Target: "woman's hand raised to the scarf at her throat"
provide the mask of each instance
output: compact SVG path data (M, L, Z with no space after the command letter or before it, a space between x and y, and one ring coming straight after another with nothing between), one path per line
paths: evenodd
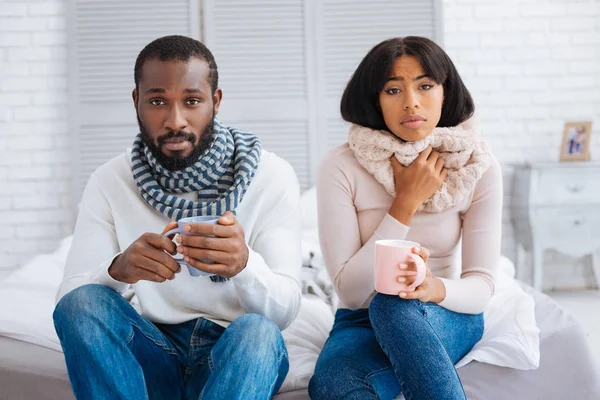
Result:
M400 164L395 155L392 155L391 162L396 199L389 213L404 225L410 225L417 209L433 196L446 179L444 161L440 153L429 146L408 167Z

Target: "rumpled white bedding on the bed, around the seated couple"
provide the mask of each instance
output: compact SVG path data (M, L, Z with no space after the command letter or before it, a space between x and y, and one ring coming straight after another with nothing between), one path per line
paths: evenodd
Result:
M0 335L61 351L52 312L70 239L63 240L53 254L35 257L0 281ZM513 274L512 263L503 258L497 292L484 314L484 336L458 367L472 360L522 370L539 365L533 299L516 284ZM314 284L305 282L303 286ZM290 372L281 392L307 387L332 325L331 304L305 294L298 318L284 331Z

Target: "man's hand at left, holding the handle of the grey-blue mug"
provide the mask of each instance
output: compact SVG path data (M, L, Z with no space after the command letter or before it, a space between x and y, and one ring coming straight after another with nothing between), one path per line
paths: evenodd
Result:
M164 282L175 278L181 267L169 254L175 254L175 243L163 236L177 223L170 222L163 233L144 233L119 255L108 269L113 279L124 283L139 281Z

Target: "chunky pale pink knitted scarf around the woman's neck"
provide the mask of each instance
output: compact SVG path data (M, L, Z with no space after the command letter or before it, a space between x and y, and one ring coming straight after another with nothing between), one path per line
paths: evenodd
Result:
M396 155L400 164L408 166L431 145L440 153L448 170L442 186L419 208L432 213L453 207L472 193L491 162L490 151L479 138L474 118L456 127L435 128L427 137L416 142L402 142L387 131L352 125L348 143L360 165L394 197L392 154Z

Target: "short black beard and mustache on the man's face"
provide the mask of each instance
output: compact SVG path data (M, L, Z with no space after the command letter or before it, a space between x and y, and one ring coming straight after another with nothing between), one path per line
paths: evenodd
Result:
M206 125L202 135L198 138L191 132L186 131L170 131L165 133L164 135L156 138L156 142L150 137L146 127L142 124L140 120L140 116L137 116L138 126L140 128L140 133L142 134L142 139L146 146L150 149L156 161L162 165L164 168L169 171L180 171L182 169L186 169L187 167L191 167L198 161L200 156L208 149L210 146L210 142L212 140L213 130L214 130L214 115L211 119L210 123ZM173 156L168 157L162 152L162 147L164 146L165 140L172 138L183 138L184 140L189 141L194 149L187 157L182 156Z

